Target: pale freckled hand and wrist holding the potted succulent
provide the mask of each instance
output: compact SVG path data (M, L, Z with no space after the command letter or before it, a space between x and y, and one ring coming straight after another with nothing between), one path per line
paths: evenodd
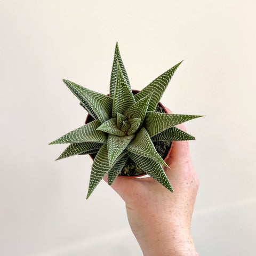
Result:
M186 131L185 126L178 128ZM174 141L164 167L174 193L153 178L117 177L111 187L123 198L127 217L144 256L198 256L190 233L198 175L188 141ZM104 178L107 181L107 177Z

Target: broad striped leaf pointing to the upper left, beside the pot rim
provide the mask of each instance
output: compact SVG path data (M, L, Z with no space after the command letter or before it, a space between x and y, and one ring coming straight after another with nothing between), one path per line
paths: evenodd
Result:
M81 100L83 105L87 108L89 105L93 113L97 116L101 123L106 122L111 117L111 108L113 100L107 95L94 92L85 87L75 84L73 82L63 80L68 88L76 97Z

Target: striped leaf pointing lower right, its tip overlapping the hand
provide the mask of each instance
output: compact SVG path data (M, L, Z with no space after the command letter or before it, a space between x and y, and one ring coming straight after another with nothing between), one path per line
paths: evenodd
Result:
M171 183L167 178L161 164L145 156L139 156L130 152L128 152L127 154L144 172L150 175L150 177L152 177L153 179L161 183L165 188L173 192Z

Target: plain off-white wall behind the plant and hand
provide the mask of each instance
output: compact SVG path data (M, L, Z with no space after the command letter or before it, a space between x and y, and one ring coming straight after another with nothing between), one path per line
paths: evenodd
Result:
M47 144L86 113L62 83L108 93L116 41L132 89L185 60L161 102L186 123L201 180L192 232L201 255L255 255L254 0L0 1L1 237L4 256L142 255L122 199L92 161L54 162Z

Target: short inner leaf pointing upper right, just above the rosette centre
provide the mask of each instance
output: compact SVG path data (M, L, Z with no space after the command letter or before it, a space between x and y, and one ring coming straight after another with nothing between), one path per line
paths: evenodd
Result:
M129 109L127 109L124 113L124 115L127 118L140 118L141 119L141 125L144 121L144 118L147 113L148 104L151 98L151 94L147 95L146 97L138 100L136 103L134 103Z

